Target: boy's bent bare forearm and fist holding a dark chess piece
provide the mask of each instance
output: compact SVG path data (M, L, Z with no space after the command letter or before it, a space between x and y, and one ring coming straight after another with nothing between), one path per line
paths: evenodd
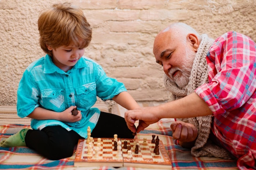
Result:
M27 117L37 120L59 120L61 122L77 122L81 120L81 111L78 111L76 116L72 115L71 111L76 108L76 106L71 106L62 112L55 112L51 110L44 109L42 107L36 107Z

